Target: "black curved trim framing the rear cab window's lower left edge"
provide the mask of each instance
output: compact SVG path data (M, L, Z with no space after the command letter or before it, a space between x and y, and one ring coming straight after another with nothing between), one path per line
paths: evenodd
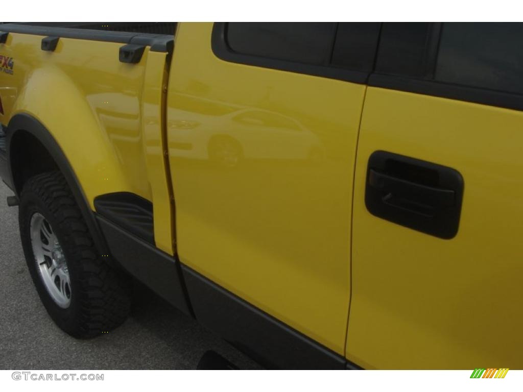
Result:
M275 60L269 59L267 57L251 56L233 52L231 48L229 48L229 45L226 41L226 28L227 24L225 22L217 22L212 28L212 52L221 60L232 63L272 68L274 70L280 71L345 80L346 82L359 84L365 84L367 82L367 77L369 75L367 72L351 71L332 65L324 66L300 64L291 61Z

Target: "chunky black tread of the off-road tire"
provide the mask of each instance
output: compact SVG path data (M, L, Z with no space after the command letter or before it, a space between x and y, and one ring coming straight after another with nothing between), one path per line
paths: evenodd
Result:
M54 216L65 234L62 247L69 251L68 263L77 269L72 282L79 297L75 322L59 326L74 337L90 338L121 325L130 310L130 280L100 256L65 178L58 171L39 174L26 182L21 198L29 193Z

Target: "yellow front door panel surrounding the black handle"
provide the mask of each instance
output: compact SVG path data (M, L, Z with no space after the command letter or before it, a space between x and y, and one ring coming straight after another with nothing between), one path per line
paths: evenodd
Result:
M347 358L367 368L523 367L523 113L367 89L356 163ZM457 235L371 215L377 150L463 176Z

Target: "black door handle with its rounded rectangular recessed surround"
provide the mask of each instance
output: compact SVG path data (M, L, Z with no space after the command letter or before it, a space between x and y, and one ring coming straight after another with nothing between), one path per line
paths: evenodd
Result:
M367 210L440 238L458 232L463 178L450 167L376 151L367 167Z

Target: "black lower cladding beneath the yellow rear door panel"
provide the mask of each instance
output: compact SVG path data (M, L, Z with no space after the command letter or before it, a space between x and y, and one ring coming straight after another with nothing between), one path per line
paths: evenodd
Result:
M347 361L180 263L192 309L203 326L267 368L345 369ZM358 368L350 364L350 368Z

